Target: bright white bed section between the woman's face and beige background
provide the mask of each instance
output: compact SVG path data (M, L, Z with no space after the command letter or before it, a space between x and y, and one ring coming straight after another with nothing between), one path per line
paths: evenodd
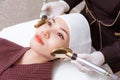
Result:
M38 19L4 28L0 32L0 37L18 43L24 47L28 47L31 38L36 31L34 25L37 22Z

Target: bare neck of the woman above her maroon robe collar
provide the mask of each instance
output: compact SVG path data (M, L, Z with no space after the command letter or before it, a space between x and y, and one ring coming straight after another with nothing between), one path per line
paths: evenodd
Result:
M32 49L28 50L16 64L35 64L48 62L48 58L36 53Z

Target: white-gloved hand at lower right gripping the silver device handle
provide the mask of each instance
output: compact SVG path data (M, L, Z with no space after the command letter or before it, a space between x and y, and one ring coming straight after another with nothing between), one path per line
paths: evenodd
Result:
M78 57L98 66L101 66L105 62L104 56L100 51L91 54L78 54ZM82 72L92 72L90 68L80 64L77 60L72 60L71 63L75 64L75 66Z

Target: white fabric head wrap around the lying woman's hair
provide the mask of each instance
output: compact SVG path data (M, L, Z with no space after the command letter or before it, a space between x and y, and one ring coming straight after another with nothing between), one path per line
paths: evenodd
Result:
M74 53L87 53L91 50L91 37L89 24L80 13L71 13L58 16L62 18L69 27L70 45Z

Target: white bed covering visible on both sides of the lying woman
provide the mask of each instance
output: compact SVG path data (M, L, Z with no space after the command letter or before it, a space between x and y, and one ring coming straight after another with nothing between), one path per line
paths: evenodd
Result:
M3 29L0 37L18 43L24 47L29 46L29 42L36 29L34 24L39 19L20 23ZM109 67L107 67L109 69ZM80 72L70 61L57 61L53 66L52 80L108 80L107 77L98 73L87 74Z

